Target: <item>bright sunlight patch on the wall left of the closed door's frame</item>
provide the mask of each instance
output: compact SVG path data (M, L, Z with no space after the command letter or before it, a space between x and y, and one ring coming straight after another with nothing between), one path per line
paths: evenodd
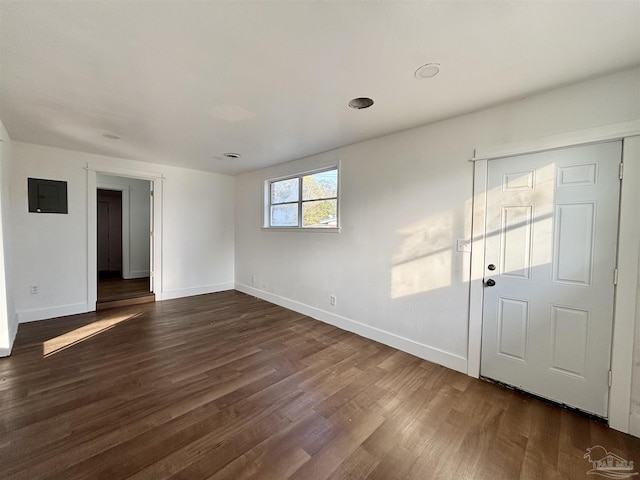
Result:
M403 240L393 257L391 298L451 285L453 213L432 215L398 234Z

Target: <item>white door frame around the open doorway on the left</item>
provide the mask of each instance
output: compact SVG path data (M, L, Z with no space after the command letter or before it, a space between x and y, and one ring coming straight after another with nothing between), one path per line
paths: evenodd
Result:
M98 299L98 190L97 174L148 180L153 186L153 218L151 219L153 242L149 275L152 277L152 292L156 300L162 300L162 183L164 176L159 172L120 168L94 163L87 164L87 308L95 311ZM124 220L124 219L123 219ZM123 232L124 236L124 232ZM124 258L123 258L124 263Z

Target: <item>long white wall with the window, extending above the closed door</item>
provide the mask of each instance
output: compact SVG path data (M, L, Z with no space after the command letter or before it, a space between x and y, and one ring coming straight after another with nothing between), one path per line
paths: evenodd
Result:
M470 236L474 148L638 119L639 83L620 72L237 177L236 287L466 371L455 243ZM336 160L341 233L260 228L265 179Z

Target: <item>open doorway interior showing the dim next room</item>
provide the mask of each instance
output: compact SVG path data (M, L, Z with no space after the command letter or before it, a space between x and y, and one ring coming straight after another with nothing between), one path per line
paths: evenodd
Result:
M151 183L98 174L98 187L96 309L153 302Z

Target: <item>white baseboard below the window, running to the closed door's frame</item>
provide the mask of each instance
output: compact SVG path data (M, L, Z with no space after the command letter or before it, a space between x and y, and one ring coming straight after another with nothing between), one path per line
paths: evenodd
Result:
M437 363L461 373L467 372L467 359L459 355L445 352L438 348L430 347L429 345L416 342L415 340L410 340L394 333L380 330L379 328L365 325L364 323L360 323L350 318L336 315L325 310L320 310L319 308L311 307L295 300L281 297L273 293L264 292L248 285L236 283L235 289L239 292L246 293L247 295L252 295L254 297L261 298L262 300L266 300L267 302L275 303L276 305L280 305L281 307L288 308L289 310L293 310L294 312L302 313L303 315L307 315L316 320L320 320L321 322L325 322L343 330L356 333L362 337L366 337L390 347L397 348L398 350L410 353L424 360Z

